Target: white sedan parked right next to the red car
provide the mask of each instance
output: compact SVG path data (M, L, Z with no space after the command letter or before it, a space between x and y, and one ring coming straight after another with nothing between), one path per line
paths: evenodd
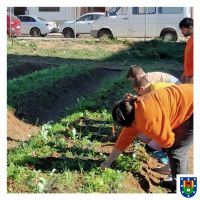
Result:
M21 21L21 34L44 37L48 33L57 31L55 22L47 21L41 17L32 15L18 15L17 17Z

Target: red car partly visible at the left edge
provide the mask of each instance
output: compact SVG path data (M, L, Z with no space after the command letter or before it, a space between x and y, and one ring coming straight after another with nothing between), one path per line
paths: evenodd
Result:
M7 12L7 35L19 36L21 34L21 21L10 12Z

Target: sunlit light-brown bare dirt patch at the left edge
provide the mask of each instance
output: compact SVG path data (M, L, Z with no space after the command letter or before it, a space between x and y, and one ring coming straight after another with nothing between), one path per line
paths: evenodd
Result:
M31 124L27 124L8 111L7 113L7 145L8 149L14 148L18 142L27 141L32 135L39 132L39 128Z

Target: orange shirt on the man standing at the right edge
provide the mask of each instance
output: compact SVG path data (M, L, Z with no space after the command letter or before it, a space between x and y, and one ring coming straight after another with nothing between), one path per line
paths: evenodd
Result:
M188 39L184 51L184 75L193 76L193 35Z

